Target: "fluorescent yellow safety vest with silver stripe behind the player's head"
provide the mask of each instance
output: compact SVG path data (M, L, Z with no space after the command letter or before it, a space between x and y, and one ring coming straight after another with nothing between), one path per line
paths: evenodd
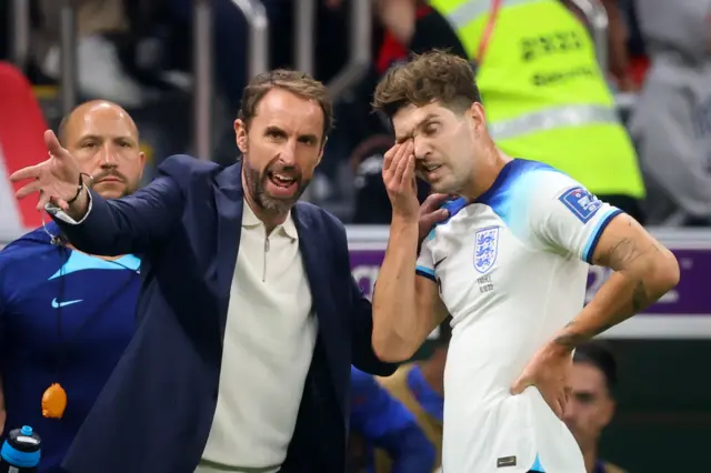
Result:
M430 0L474 59L491 0ZM502 0L477 83L509 155L557 168L597 194L644 197L637 152L584 26L558 0Z

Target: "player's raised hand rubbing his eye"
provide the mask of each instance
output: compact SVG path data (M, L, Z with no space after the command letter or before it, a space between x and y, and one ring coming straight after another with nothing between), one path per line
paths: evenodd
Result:
M420 202L413 152L412 140L397 143L388 150L382 162L382 181L392 203L393 215L414 222L420 214Z

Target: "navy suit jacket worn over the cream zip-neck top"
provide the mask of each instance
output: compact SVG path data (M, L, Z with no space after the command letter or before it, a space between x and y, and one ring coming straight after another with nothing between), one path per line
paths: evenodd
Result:
M218 397L242 198L241 163L174 155L133 195L92 192L80 224L54 219L81 251L142 255L139 326L67 455L70 473L198 465ZM282 472L343 472L351 363L379 375L395 366L372 351L371 306L351 276L343 224L309 203L292 214L319 336Z

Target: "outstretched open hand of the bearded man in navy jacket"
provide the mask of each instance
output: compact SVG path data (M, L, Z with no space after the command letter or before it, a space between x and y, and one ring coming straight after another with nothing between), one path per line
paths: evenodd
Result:
M68 201L77 197L80 171L74 158L59 144L54 132L44 132L44 143L49 159L39 164L20 169L10 175L12 182L31 180L17 192L18 199L39 193L37 209L42 210L48 202L68 210Z

